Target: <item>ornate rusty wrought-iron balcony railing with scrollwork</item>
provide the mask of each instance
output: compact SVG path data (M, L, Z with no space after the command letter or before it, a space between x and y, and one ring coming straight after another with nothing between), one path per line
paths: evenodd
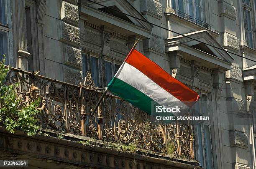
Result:
M97 113L91 114L102 92L95 91L90 72L80 86L57 81L10 67L6 85L16 88L20 104L28 105L41 97L38 124L44 128L84 135L109 142L136 144L156 152L168 152L194 158L193 128L188 123L153 122L137 107L107 94Z

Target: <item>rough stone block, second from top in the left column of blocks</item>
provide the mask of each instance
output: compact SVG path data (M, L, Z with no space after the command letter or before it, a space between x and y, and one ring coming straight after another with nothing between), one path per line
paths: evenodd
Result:
M70 45L80 46L80 31L78 27L60 22L60 40Z

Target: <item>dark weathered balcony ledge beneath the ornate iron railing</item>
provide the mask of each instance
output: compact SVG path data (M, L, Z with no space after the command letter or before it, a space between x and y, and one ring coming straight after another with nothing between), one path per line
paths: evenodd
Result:
M116 167L116 161L118 160L119 162L122 161L122 167L124 164L125 166L137 165L137 167L138 164L144 167L149 164L150 166L168 168L201 169L198 162L178 159L178 157L170 157L164 153L145 153L141 150L136 150L136 153L120 152L115 149L103 147L104 142L101 140L95 141L97 145L83 145L78 143L78 141L88 140L90 139L89 137L65 133L64 139L59 139L54 137L54 135L56 136L60 134L60 132L49 129L45 129L44 132L47 132L50 136L36 134L34 137L28 137L19 130L15 130L15 134L9 134L5 130L5 127L0 126L0 152L18 153L20 157L22 157L22 154L26 154L28 164L30 158L36 156L40 159L54 160L56 162L68 162L74 165L79 164L81 167L92 165L94 167L104 167L108 165L109 167ZM29 148L29 145L31 148ZM38 151L38 146L41 147L41 151ZM65 157L66 152L69 153ZM73 152L73 155L71 152ZM18 154L17 157L19 159ZM100 162L100 158L105 159L105 161ZM136 163L134 162L135 158ZM108 160L110 160L109 164Z

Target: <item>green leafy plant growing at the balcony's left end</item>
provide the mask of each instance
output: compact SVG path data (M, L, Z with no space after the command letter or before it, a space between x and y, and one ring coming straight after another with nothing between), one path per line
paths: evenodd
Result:
M31 102L29 106L19 105L15 88L18 83L5 85L4 80L9 72L5 68L5 59L0 62L0 123L10 132L14 133L15 129L21 129L28 136L33 136L38 132L40 127L36 125L36 115L40 112L37 108L40 100Z

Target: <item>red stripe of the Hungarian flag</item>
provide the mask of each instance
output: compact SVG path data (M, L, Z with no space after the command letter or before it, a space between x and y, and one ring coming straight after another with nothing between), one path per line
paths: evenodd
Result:
M182 82L169 75L159 65L149 60L137 50L134 49L125 59L125 62L136 67L136 69L174 97L184 102L184 104L187 104L187 106L191 107L199 99L197 92L189 89Z

